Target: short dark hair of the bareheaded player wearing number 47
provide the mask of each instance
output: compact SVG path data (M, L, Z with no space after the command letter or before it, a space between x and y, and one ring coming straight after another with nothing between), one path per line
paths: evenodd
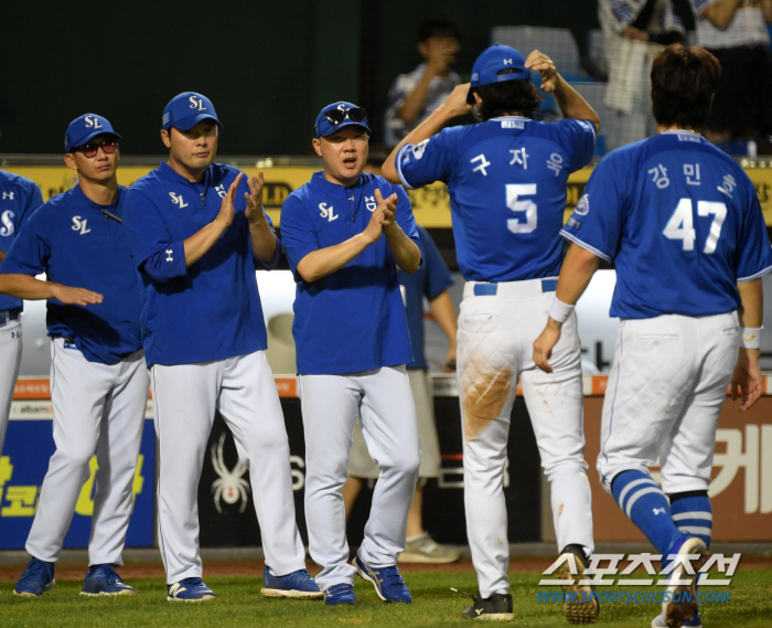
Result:
M710 114L721 64L707 50L668 45L652 65L652 109L658 125L700 129Z

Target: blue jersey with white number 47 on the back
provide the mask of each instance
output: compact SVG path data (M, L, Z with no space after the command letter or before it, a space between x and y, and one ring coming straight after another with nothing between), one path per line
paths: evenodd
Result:
M611 316L710 316L740 305L738 281L772 270L764 216L733 159L689 131L609 153L562 231L616 267Z

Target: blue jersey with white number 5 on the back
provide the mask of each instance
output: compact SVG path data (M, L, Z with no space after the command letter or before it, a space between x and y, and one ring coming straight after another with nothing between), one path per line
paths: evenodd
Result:
M459 268L474 281L555 277L566 182L594 152L596 126L521 117L451 127L397 155L403 184L444 181Z

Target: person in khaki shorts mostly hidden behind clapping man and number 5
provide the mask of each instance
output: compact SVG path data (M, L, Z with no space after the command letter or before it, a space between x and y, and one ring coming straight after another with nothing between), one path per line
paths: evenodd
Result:
M418 436L421 443L421 464L418 468L418 483L412 504L407 515L407 539L405 551L399 555L400 563L452 563L461 557L461 552L437 543L423 530L423 486L428 478L440 475L440 443L437 437L435 422L433 394L431 380L428 376L427 360L423 353L423 297L435 320L444 331L450 342L446 368L451 371L455 364L455 334L458 323L453 301L448 288L453 285L453 277L444 265L429 232L421 225L416 225L420 240L421 264L412 275L398 273L397 279L403 292L405 313L410 332L414 361L406 364L412 400L416 403L418 417ZM346 518L351 512L356 497L362 489L362 479L377 480L380 469L373 462L367 451L367 444L362 435L358 423L354 425L353 444L349 456L349 480L343 486L343 499L346 507Z

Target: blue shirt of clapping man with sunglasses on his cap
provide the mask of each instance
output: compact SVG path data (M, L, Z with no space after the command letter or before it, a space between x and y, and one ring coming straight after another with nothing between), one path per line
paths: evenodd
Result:
M281 242L298 283L292 336L298 373L332 375L412 362L397 266L386 236L340 270L304 281L298 264L309 253L362 233L384 198L397 194L397 224L420 244L410 201L399 185L361 174L351 188L322 172L292 192L281 207Z

